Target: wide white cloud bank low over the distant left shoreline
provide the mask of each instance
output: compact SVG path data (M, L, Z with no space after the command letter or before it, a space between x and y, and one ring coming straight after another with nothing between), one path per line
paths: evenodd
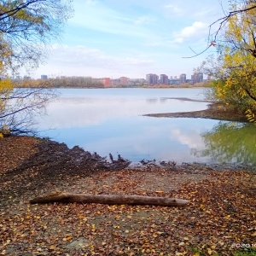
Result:
M108 55L100 49L82 45L55 44L47 66L40 67L40 72L46 73L49 70L53 75L89 75L97 78L114 73L128 75L132 70L144 70L153 64L154 61L147 57Z

